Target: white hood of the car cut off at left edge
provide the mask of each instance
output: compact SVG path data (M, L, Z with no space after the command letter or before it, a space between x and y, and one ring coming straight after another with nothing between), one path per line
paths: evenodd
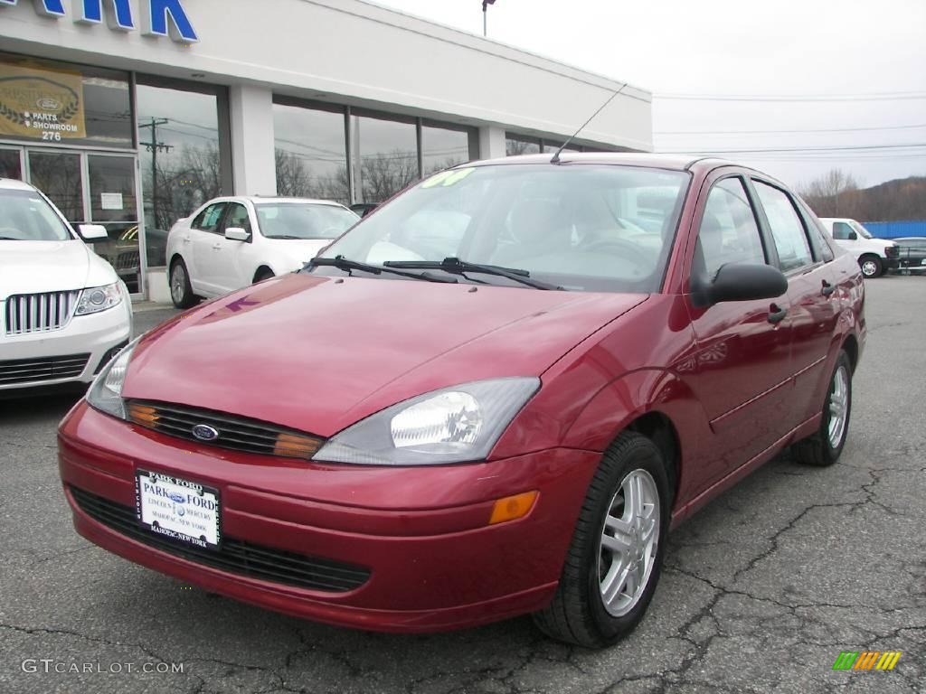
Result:
M82 241L0 241L0 299L115 281L112 268Z

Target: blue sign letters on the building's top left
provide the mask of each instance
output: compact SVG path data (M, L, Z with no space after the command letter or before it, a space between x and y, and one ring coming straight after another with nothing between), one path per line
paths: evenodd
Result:
M0 7L15 6L18 0L0 0ZM27 0L29 2L29 0ZM67 16L64 0L31 0L35 11L45 17L60 19ZM186 16L181 0L139 0L142 33L148 36L169 36L180 43L196 43L199 37ZM130 0L82 0L74 3L80 15L74 18L79 24L100 24L104 15L110 29L135 31L136 22Z

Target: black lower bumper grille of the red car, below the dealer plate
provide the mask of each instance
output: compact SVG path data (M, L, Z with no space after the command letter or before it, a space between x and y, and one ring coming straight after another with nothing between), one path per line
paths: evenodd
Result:
M249 576L286 586L343 593L362 586L369 579L369 569L319 559L294 551L277 550L244 540L222 537L218 550L206 550L162 538L141 527L131 506L110 502L89 491L69 487L81 511L97 523L120 535L164 551L188 562L204 564L229 574Z

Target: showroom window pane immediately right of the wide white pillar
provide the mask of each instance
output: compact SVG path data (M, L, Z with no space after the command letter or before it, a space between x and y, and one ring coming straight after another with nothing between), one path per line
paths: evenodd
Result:
M273 104L277 193L350 204L344 107Z

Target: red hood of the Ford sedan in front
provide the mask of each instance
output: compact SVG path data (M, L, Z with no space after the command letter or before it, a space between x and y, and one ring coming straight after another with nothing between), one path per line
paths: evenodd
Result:
M327 437L423 392L540 376L645 299L289 275L157 328L135 349L123 396Z

